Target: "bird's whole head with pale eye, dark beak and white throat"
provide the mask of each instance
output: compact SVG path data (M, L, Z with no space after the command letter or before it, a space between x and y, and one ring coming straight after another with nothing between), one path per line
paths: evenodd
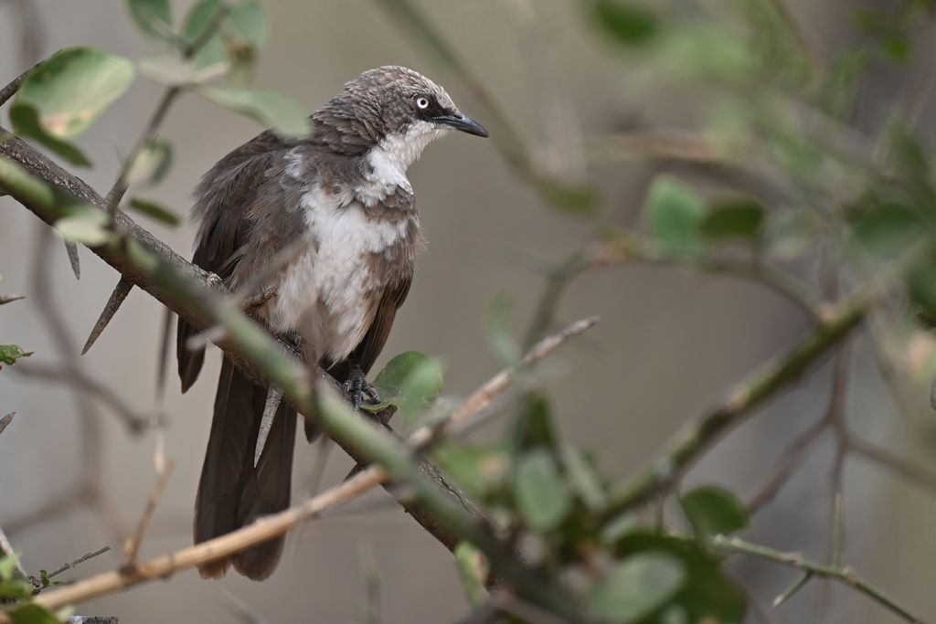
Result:
M313 140L331 151L363 155L377 148L399 157L403 168L446 131L488 136L445 89L399 65L370 69L345 83L340 94L314 112L313 120Z

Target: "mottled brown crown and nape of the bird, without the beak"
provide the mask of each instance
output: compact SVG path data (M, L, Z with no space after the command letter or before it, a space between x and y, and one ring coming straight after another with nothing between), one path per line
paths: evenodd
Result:
M417 107L420 97L429 100L428 108ZM313 142L332 152L361 155L413 123L457 110L432 80L407 67L384 65L346 82L340 94L313 113Z

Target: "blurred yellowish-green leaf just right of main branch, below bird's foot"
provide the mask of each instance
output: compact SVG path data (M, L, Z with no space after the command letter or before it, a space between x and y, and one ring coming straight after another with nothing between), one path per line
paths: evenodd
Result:
M456 484L482 500L505 486L510 472L510 456L503 448L444 443L432 457Z

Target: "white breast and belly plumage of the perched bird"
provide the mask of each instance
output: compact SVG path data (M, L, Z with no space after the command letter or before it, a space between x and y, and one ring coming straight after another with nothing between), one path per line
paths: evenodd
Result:
M306 230L296 259L278 286L271 325L299 331L317 356L340 361L363 340L381 295L412 269L404 252L418 229L414 218L375 218L358 202L310 192Z

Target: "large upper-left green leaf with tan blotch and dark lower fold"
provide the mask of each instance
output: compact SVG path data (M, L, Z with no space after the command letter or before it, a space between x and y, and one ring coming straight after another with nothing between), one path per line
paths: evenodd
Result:
M29 72L10 109L16 132L75 164L88 165L66 139L87 130L133 82L133 65L95 48L70 48Z

